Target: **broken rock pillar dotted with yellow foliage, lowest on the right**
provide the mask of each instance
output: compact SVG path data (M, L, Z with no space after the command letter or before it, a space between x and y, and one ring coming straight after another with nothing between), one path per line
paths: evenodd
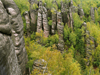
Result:
M90 58L92 57L92 52L95 50L95 41L94 41L94 37L90 36L90 32L87 30L87 24L84 22L83 23L83 27L84 27L84 38L85 38L85 50L86 50L86 65L89 66L90 65Z

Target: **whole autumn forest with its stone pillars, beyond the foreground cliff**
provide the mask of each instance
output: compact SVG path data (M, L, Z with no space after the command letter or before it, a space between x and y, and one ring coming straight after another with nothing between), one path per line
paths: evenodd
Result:
M100 75L100 0L33 0L33 4L32 0L14 1L24 23L29 60L26 67L30 68L31 75ZM46 20L45 17L42 20L44 26L47 21L49 29L45 30L42 24L42 30L38 31L39 9L43 16L47 14ZM33 18L36 21L32 26L30 18L28 27L25 12L31 17L31 10L36 14ZM41 59L46 63L42 62L40 67L46 65L46 68L34 68L34 62Z

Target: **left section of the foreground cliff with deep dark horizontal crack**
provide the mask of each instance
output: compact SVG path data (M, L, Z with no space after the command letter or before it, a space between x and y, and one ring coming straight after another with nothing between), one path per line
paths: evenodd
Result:
M6 5L9 5L7 0L0 0L0 75L22 75L11 39L12 24Z

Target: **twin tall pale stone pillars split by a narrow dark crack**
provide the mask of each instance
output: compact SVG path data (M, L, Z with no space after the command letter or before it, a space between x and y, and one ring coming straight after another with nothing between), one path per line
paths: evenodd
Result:
M49 36L49 25L47 20L47 9L42 6L42 1L39 1L37 32L44 30L44 36Z

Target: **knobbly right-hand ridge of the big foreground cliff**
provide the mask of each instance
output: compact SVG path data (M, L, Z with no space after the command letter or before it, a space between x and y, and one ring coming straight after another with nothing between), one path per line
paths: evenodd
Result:
M28 61L27 52L25 50L25 43L23 38L23 21L20 11L13 0L2 0L4 6L11 17L12 24L12 40L14 44L15 53L17 55L18 63L23 75L26 74L26 64Z

